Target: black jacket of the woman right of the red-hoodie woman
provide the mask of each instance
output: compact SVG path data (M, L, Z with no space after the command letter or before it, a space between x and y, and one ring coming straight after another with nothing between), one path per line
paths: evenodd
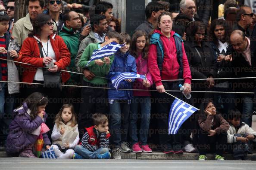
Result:
M196 50L201 55L200 56ZM208 42L203 42L202 47L194 42L186 41L184 43L187 60L189 62L192 79L206 79L209 76L216 77L217 62L215 60L214 52ZM203 53L201 53L202 51Z

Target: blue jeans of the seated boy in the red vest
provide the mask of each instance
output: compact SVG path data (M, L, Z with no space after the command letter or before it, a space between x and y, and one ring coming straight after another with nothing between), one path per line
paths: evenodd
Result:
M88 149L85 149L81 145L75 146L75 153L81 155L84 159L97 159L98 155L109 152L108 148L99 148L98 150L91 152Z

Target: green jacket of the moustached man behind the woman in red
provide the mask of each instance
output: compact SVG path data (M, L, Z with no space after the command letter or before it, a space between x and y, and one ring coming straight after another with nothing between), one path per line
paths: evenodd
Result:
M69 52L70 52L70 57L71 57L71 62L69 67L67 69L72 72L77 72L76 67L75 67L75 58L79 49L79 36L80 32L79 31L74 31L72 28L69 29L65 26L62 27L62 30L59 31L59 36L62 37L64 40L65 44L67 45ZM80 76L79 74L75 73L70 73L71 77L68 80L68 83L78 83L80 82Z

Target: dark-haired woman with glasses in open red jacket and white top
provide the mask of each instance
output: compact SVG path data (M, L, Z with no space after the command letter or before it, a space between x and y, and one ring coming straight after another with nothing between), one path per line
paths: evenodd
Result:
M39 49L39 46L41 49ZM50 15L46 14L38 14L33 24L33 30L28 34L28 38L24 40L20 52L22 54L21 61L33 65L22 64L22 67L24 67L22 82L44 84L44 81L49 81L49 79L44 79L45 71L56 73L65 70L65 67L70 64L69 50L63 39L53 33L53 21ZM43 67L49 67L49 69L44 70L43 73ZM62 83L65 83L70 77L69 73L66 72L61 72L60 75ZM25 95L28 96L33 92L48 95L50 102L47 111L50 114L56 114L62 106L60 88L44 88L43 85L28 84L25 87ZM54 116L50 117L49 122L53 122Z

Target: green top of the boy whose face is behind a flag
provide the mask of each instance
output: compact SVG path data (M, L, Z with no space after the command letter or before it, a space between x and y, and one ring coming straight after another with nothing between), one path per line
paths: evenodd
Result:
M106 77L106 75L109 73L110 70L110 66L114 60L114 55L111 55L110 58L110 64L106 65L103 64L103 66L99 66L97 64L95 64L95 61L90 62L90 64L88 66L87 63L90 61L91 59L91 55L94 52L94 50L99 49L99 44L100 43L96 43L96 44L89 44L86 49L84 50L79 62L78 62L78 66L81 68L88 68L92 73L94 73L95 76L100 76L100 77ZM102 58L101 60L103 61L104 58ZM94 77L91 80L88 80L84 77L84 81L86 82L90 82L94 85L106 85L107 84L107 79L103 79L100 77Z

